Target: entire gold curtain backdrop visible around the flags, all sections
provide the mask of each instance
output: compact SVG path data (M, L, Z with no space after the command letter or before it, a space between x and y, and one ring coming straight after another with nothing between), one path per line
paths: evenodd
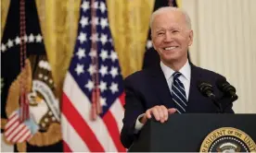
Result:
M1 0L1 37L10 0ZM140 70L154 0L107 0L114 47L123 77ZM61 94L78 29L81 0L36 0L47 57Z

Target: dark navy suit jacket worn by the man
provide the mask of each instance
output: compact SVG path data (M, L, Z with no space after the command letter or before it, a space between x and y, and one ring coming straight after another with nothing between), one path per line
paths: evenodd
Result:
M224 78L212 71L191 64L191 80L186 113L215 113L217 107L213 102L203 96L198 90L198 81L211 84L214 94L221 98L223 93L215 86L217 79ZM224 78L225 79L225 78ZM164 105L167 109L174 108L170 89L163 75L160 65L150 67L128 76L124 80L125 86L125 112L122 120L121 141L124 147L130 147L134 138L134 124L137 117L156 105ZM228 103L228 102L226 102ZM225 107L225 106L224 106ZM232 104L224 112L234 113Z

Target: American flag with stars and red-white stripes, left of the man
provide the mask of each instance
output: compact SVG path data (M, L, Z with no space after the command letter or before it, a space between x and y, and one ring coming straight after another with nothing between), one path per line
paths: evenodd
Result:
M102 112L92 120L97 99L97 111ZM82 1L78 36L62 100L65 152L125 151L120 141L124 113L122 74L105 0Z

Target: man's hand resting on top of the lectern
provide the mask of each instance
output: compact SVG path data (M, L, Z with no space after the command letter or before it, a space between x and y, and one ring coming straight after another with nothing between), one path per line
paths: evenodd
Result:
M141 124L146 124L147 119L151 119L152 115L156 118L157 121L160 123L164 123L168 120L169 114L173 114L176 112L176 109L167 109L165 106L154 106L151 109L148 109L147 112L143 115L140 119Z

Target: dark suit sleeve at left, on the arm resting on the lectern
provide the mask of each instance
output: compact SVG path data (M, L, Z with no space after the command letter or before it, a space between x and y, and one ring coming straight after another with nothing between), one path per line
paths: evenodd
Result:
M121 141L122 145L126 148L131 147L134 139L137 137L135 134L135 122L137 117L145 113L143 99L139 92L139 84L134 79L126 78L124 81L125 90L125 105L124 105L124 118L122 120Z

